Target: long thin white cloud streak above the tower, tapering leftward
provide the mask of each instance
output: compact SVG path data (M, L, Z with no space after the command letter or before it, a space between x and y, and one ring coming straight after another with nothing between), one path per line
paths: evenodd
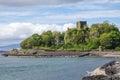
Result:
M118 18L120 17L120 10L95 10L95 11L81 11L66 14L46 15L44 17L34 17L33 21L41 23L59 23L67 21L76 21L80 19L93 19L93 18ZM52 21L52 22L51 22Z

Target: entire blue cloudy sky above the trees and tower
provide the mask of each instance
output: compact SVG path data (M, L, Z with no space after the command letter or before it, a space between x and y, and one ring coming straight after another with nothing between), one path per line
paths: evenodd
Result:
M64 32L77 21L90 27L105 20L120 29L120 0L0 0L0 46L47 30Z

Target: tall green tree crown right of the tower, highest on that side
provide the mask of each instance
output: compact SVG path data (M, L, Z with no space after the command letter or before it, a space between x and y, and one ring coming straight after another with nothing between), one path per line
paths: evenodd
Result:
M90 38L99 38L103 33L109 33L111 31L119 32L118 28L114 24L109 24L108 21L103 23L93 24L90 28Z

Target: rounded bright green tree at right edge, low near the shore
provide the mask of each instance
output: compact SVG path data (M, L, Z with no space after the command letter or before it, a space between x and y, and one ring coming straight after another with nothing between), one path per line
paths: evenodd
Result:
M100 36L100 44L106 49L115 49L120 45L120 32L112 31Z

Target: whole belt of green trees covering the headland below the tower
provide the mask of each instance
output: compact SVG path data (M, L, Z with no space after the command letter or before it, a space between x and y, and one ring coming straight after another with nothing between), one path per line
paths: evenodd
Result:
M49 50L93 50L115 49L120 50L120 31L108 21L84 25L82 28L68 28L65 32L46 31L42 34L33 34L21 43L22 49L49 49Z

